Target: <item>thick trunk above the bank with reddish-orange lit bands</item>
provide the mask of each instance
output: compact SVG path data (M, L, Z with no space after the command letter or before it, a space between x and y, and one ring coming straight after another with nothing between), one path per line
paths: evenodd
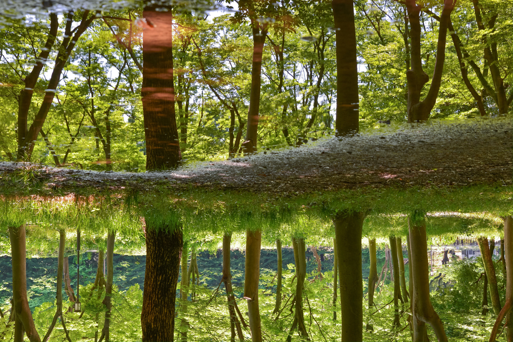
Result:
M143 10L151 24L143 33L141 88L147 170L172 168L182 159L174 110L173 15L170 8L157 11L156 7L161 6Z

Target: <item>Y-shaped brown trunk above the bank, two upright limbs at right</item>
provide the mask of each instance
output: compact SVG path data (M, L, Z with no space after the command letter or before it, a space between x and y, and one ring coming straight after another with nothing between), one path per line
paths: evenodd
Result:
M443 66L445 61L445 41L450 14L456 4L456 0L445 0L440 27L438 32L437 59L435 70L429 87L428 94L424 100L420 100L421 91L429 81L429 76L422 69L421 56L421 24L419 14L422 6L417 5L416 0L406 0L406 9L410 21L411 37L411 69L406 71L406 84L408 87L408 122L424 122L429 118L431 109L437 101L438 91L442 81Z

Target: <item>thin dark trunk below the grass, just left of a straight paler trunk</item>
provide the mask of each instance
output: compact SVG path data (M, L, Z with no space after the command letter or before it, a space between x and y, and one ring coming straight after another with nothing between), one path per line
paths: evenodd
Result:
M230 248L231 248L231 233L223 235L223 283L226 289L226 297L228 300L228 312L230 313L230 328L231 340L235 341L235 332L240 341L244 340L242 333L241 322L237 317L235 296L233 295L233 288L231 285L231 271L230 271Z

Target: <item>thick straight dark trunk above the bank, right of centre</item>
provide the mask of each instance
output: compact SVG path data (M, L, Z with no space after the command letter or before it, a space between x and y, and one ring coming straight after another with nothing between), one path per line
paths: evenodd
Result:
M359 131L358 62L352 0L332 0L337 54L337 135ZM342 279L341 279L342 280Z

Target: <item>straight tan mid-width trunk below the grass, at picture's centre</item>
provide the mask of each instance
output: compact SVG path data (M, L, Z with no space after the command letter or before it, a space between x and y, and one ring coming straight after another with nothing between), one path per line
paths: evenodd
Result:
M251 341L262 341L262 323L258 305L258 286L260 280L260 249L262 231L246 231L246 261L244 265L244 299L248 303L249 329Z

